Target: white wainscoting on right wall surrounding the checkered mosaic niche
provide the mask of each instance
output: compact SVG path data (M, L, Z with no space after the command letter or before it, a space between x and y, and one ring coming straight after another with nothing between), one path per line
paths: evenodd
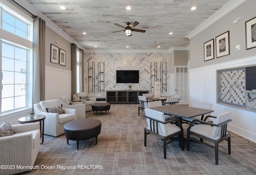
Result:
M256 112L250 112L216 103L216 70L253 64L256 64L256 56L197 69L190 69L189 98L190 106L193 101L212 103L212 110L214 110L212 115L214 116L222 112L231 111L232 122L228 125L228 130L256 142Z

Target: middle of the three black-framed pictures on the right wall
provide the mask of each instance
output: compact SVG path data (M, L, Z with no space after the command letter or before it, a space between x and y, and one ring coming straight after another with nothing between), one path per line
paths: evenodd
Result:
M217 36L216 39L216 57L223 57L230 54L229 50L229 31Z

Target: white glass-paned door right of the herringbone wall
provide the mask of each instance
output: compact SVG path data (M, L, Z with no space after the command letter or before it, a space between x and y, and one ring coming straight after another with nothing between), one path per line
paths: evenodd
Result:
M175 92L180 95L178 104L188 104L188 66L174 66Z

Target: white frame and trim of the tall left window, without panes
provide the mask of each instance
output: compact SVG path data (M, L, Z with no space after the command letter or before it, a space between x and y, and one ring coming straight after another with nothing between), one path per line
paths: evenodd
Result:
M2 29L2 11L5 11L15 18L21 20L22 22L28 24L27 28L27 39L19 37L13 33L10 33ZM22 116L27 112L31 111L32 108L32 39L33 39L33 19L24 12L20 11L15 6L9 4L5 1L0 1L0 40L2 42L10 43L17 47L22 47L28 49L28 59L27 59L27 82L26 82L26 106L24 108L10 110L8 112L0 111L0 121L14 116ZM2 44L0 49L0 56L2 57ZM0 69L2 72L2 59L0 61ZM0 80L2 86L2 79ZM0 99L2 103L2 93L0 93Z

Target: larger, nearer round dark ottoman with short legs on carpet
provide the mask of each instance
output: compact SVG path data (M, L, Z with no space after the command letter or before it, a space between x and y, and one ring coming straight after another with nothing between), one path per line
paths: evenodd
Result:
M68 140L76 140L77 149L79 147L79 140L87 140L95 137L97 144L100 131L100 120L91 118L73 120L64 125L64 134L67 138L67 143Z

